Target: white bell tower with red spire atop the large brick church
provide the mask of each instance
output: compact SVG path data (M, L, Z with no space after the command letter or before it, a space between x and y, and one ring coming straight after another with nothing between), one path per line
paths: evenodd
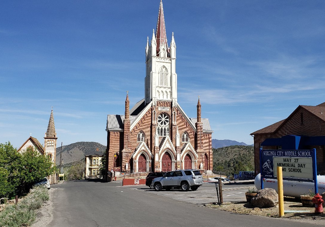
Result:
M177 74L175 70L176 44L174 32L170 47L166 38L165 19L160 1L156 34L153 30L151 41L147 38L145 103L151 100L177 102ZM155 103L154 103L155 105Z

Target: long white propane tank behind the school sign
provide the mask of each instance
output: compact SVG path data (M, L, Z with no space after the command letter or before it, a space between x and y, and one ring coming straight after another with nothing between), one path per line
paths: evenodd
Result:
M257 190L261 190L261 173L255 177L254 184ZM317 186L318 193L321 195L325 191L325 176L317 176ZM273 188L278 193L278 180L264 178L264 188ZM307 194L309 190L315 192L314 182L283 180L283 196L300 198L300 196Z

